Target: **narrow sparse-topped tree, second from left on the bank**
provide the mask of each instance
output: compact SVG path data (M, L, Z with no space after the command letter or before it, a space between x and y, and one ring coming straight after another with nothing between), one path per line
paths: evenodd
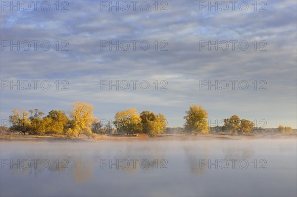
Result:
M29 110L29 112L31 113L31 116L29 118L31 122L30 133L35 135L45 134L46 129L42 118L42 115L44 115L44 113L39 111L38 109L35 109L34 111Z

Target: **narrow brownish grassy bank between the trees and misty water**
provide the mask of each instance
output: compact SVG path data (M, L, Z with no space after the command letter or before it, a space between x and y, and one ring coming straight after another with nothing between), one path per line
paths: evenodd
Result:
M67 142L121 142L121 141L187 141L187 140L251 140L251 139L297 139L296 134L249 134L249 135L228 135L228 134L161 134L155 137L148 137L147 134L138 136L127 136L126 134L102 134L94 138L80 136L68 138L65 135L5 135L0 134L0 142L40 142L40 141L67 141Z

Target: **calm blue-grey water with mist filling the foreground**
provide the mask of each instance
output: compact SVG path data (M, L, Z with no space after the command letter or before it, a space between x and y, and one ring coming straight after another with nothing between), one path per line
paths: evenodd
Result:
M0 158L0 196L297 196L296 139L3 141Z

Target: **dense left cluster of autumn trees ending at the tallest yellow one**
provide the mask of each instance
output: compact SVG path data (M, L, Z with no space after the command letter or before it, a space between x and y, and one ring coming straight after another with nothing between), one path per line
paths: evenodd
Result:
M93 117L93 110L92 105L78 101L73 104L72 109L68 112L69 118L65 112L57 110L51 110L46 117L42 117L44 113L38 109L29 110L29 112L25 109L22 109L21 112L15 109L9 117L9 121L12 124L12 130L23 134L64 133L68 136L77 137L84 133L90 136L92 134L92 122L98 122L98 119Z

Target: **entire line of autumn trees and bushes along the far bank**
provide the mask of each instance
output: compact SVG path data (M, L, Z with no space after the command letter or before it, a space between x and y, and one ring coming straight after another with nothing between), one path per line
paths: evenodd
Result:
M169 128L167 120L162 114L143 111L138 114L136 109L127 109L117 112L114 121L101 124L99 119L93 117L94 107L90 104L76 101L67 115L63 111L51 110L43 117L44 113L38 109L26 111L17 109L12 111L9 117L10 129L23 134L46 135L64 134L68 137L77 137L82 134L92 137L96 134L113 134L124 132L127 135L146 133L149 137L162 133L230 133L232 135L248 134L262 128L254 127L254 123L247 119L241 119L237 115L224 119L223 126L209 127L207 124L208 114L201 106L192 105L186 111L184 127ZM116 130L112 128L112 124ZM263 130L263 129L262 129ZM280 125L279 133L291 134L292 127Z

